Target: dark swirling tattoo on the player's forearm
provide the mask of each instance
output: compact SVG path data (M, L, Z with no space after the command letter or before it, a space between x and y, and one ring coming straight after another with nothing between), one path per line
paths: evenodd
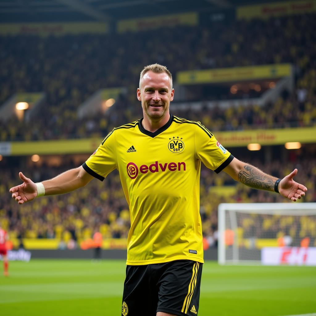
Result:
M245 165L245 170L238 173L238 181L254 189L274 190L273 178L256 167Z

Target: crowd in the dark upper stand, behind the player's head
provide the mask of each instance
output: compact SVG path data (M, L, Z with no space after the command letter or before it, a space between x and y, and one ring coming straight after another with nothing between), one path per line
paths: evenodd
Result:
M205 121L212 131L314 125L316 49L311 43L315 42L315 21L315 14L306 14L142 33L1 36L0 103L15 92L44 91L46 105L31 122L16 118L1 122L0 141L102 137L114 126L138 119L141 109L135 87L139 72L155 62L166 64L174 77L181 70L291 63L295 89L273 105L174 114ZM152 38L155 50L151 49ZM128 91L115 104L116 110L79 119L78 106L98 89L109 87ZM231 97L229 92L221 96ZM249 97L249 92L243 97ZM203 101L209 96L193 91L192 98Z

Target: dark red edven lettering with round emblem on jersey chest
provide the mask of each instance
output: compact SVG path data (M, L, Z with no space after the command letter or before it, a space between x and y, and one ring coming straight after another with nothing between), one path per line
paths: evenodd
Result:
M151 165L141 165L139 168L134 162L129 162L126 166L127 174L131 179L135 179L138 173L155 173L166 171L185 171L185 162L165 162L155 161Z

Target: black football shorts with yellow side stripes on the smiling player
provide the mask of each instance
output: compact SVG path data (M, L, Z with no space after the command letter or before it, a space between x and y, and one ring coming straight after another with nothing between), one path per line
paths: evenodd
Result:
M156 316L157 312L196 316L201 275L202 264L191 260L128 265L122 316Z

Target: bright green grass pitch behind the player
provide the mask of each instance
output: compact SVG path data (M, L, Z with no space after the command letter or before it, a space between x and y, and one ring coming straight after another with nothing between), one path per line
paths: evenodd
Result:
M2 264L1 264L2 266ZM3 316L119 316L124 260L10 262ZM141 308L141 306L140 306ZM199 316L316 313L316 267L203 266ZM152 315L148 315L152 316Z

